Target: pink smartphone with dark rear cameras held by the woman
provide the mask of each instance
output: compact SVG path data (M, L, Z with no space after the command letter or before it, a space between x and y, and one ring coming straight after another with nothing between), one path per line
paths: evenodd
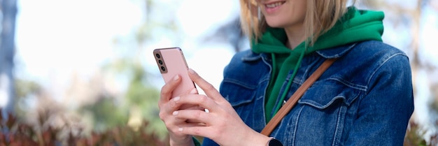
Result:
M172 96L179 96L195 88L195 83L188 75L188 65L181 48L160 48L153 53L164 82L169 82L175 75L181 76L181 84L174 89Z

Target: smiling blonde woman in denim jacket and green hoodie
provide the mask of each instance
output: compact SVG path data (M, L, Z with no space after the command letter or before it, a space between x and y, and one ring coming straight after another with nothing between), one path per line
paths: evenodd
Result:
M196 89L171 95L178 76L162 87L160 117L171 145L199 145L192 136L223 146L281 145L275 139L283 145L403 145L414 111L408 57L382 42L382 12L346 3L241 0L251 50L234 55L220 92L192 70L190 78L206 95ZM271 135L260 134L283 101L332 58L337 61Z

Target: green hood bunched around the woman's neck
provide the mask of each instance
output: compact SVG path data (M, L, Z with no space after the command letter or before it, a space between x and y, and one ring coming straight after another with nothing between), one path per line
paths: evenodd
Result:
M332 29L321 35L313 46L306 48L306 54L348 43L382 41L383 17L384 14L380 11L358 10L355 7L349 7L347 13ZM256 53L290 53L305 48L305 42L302 42L297 48L290 50L284 45L287 40L288 36L283 28L267 27L257 43L252 40L251 44Z

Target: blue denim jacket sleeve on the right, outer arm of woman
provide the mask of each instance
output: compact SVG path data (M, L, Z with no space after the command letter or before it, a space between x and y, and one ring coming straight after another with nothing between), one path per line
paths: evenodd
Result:
M361 98L358 117L346 145L403 145L414 95L409 60L404 54L381 61L369 78L367 94Z

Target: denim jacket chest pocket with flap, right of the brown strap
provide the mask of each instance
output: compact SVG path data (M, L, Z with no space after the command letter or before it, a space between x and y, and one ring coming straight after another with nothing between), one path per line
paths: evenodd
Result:
M339 145L348 110L360 90L329 80L315 82L299 99L281 126L290 145ZM287 120L287 121L284 121Z

